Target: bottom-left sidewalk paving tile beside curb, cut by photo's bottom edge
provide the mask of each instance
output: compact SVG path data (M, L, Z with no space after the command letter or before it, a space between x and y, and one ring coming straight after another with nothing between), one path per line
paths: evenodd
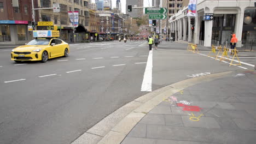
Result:
M154 139L144 139L144 138L137 138L137 137L126 137L121 144L156 144L156 140Z

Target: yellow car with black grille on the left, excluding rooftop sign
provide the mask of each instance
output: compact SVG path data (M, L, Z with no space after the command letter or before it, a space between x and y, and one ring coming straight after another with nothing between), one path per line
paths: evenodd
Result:
M11 50L11 60L17 63L21 61L45 63L50 58L67 57L68 54L69 45L65 41L56 38L37 38Z

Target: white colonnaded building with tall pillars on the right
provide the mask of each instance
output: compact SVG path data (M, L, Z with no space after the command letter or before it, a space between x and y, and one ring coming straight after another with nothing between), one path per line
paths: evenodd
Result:
M231 34L235 33L238 39L237 47L254 43L253 39L256 37L255 1L198 0L196 17L188 17L187 8L178 11L169 20L172 36L176 40L187 40L203 46L212 44L229 46ZM204 20L204 14L213 14L213 19ZM194 26L190 23L191 19L195 21Z

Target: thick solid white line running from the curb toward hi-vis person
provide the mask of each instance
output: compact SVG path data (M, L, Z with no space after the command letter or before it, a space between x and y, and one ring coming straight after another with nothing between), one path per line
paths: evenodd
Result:
M149 51L147 66L144 72L144 77L141 85L142 92L152 91L152 69L153 69L153 51Z

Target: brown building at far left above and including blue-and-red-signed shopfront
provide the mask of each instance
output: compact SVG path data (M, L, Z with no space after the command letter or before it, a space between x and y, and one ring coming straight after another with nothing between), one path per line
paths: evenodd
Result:
M25 44L32 39L31 0L0 0L0 45Z

